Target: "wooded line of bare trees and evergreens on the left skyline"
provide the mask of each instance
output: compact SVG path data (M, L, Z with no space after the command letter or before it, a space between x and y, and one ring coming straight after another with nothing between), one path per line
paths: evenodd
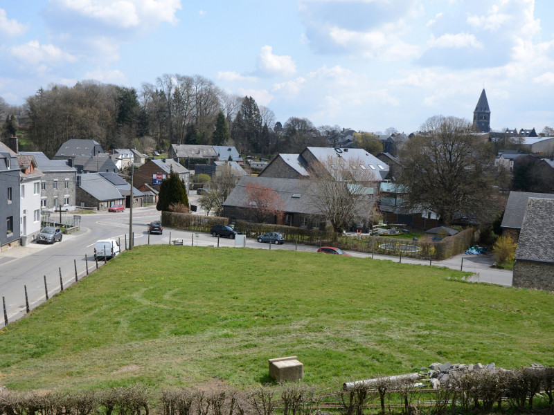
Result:
M307 118L284 124L250 96L226 93L201 75L164 74L141 89L95 80L40 88L14 107L0 97L1 136L26 130L26 145L53 156L71 138L104 149L167 149L170 144L235 145L241 154L327 146L339 126L315 127ZM17 126L16 118L20 126Z

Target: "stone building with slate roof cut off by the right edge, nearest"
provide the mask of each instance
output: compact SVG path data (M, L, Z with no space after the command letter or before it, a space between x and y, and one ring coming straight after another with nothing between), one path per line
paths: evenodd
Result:
M512 285L554 291L554 199L531 197L515 251Z

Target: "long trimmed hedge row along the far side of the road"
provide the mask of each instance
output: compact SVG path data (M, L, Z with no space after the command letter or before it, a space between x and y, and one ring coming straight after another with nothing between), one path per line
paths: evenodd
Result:
M188 213L162 212L161 219L164 226L193 232L210 232L212 225L229 225L228 218ZM237 221L234 225L242 234L252 238L265 232L280 232L287 241L296 241L307 245L336 246L343 250L374 252L382 255L402 255L402 257L435 259L438 261L464 252L472 246L475 240L475 231L471 228L435 242L429 238L413 241L412 239L388 237L340 236L334 239L335 235L331 230L296 228L294 226L247 221Z

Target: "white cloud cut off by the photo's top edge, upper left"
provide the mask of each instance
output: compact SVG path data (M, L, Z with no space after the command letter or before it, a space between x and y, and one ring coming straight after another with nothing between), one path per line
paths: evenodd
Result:
M75 12L118 28L176 24L175 12L181 9L180 0L51 0L51 3L60 11Z

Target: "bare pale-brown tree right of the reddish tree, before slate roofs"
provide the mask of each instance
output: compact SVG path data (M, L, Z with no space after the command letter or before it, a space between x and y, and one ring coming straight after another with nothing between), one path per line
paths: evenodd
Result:
M376 178L364 160L329 157L310 167L310 201L332 225L334 237L352 221L367 225L375 204Z

